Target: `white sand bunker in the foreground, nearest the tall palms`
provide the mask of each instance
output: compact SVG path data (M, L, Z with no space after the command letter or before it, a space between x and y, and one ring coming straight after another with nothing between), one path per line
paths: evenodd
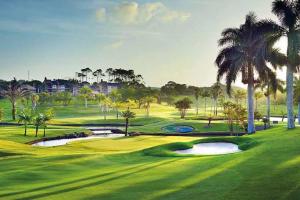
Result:
M220 155L240 152L238 145L228 142L210 142L195 144L191 149L177 150L178 154Z

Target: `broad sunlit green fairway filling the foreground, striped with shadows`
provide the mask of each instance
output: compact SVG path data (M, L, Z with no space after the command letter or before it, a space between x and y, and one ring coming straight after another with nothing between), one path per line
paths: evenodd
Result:
M240 200L300 195L299 129L278 126L243 136L256 145L240 153L192 157L150 156L144 151L196 140L193 137L97 139L42 148L10 142L5 137L17 136L9 128L4 132L0 199Z

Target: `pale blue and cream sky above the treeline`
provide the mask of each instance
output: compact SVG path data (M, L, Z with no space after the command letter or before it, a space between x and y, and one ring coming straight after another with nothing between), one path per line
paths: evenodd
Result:
M271 2L3 0L0 79L27 79L27 71L31 79L73 78L83 67L122 67L151 86L207 86L216 79L221 31L243 23L249 11L275 20Z

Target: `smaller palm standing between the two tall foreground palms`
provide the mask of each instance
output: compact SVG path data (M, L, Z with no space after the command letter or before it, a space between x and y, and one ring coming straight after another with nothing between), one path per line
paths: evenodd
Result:
M283 92L283 85L284 81L276 78L276 74L272 72L268 75L266 80L258 83L255 85L255 88L260 88L267 99L267 119L268 119L268 126L270 127L270 117L271 117L271 95L274 95L274 98L276 98L277 91Z

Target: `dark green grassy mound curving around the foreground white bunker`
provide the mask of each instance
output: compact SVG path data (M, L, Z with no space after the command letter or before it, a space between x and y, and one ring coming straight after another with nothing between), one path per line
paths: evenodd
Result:
M158 157L200 156L200 155L182 155L182 154L177 154L174 151L189 149L192 148L193 145L195 144L208 143L208 142L230 142L238 145L239 149L242 151L246 151L258 144L258 142L255 139L249 137L214 137L214 138L198 139L191 142L176 142L176 143L151 147L148 149L144 149L143 153L146 156L158 156Z

